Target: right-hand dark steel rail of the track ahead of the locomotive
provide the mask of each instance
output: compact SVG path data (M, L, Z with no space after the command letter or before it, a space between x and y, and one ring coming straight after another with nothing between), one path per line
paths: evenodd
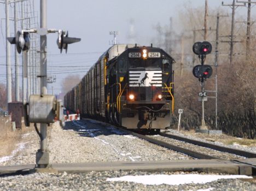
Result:
M172 134L167 134L167 133L159 133L159 135L165 136L165 137L171 138L171 139L176 139L176 140L179 140L179 141L188 142L190 144L194 144L194 145L198 145L198 146L202 146L202 147L212 148L212 149L217 150L217 151L236 154L236 155L239 155L239 156L242 156L242 157L256 158L256 153L252 153L252 152L247 152L247 151L237 150L235 148L228 148L228 147L223 147L223 146L219 146L219 145L214 145L214 144L210 144L210 143L207 143L207 142L202 142L202 141L197 141L197 140L193 140L193 139L184 138L184 137L178 136L178 135L172 135Z

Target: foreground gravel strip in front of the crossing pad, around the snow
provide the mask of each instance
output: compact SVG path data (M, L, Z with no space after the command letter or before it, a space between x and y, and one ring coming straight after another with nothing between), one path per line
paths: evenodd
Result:
M30 174L1 177L1 190L256 190L256 184L241 179L222 179L205 184L146 185L134 182L112 182L107 178L127 175L172 175L184 172L103 171L87 174ZM196 172L194 174L197 174Z

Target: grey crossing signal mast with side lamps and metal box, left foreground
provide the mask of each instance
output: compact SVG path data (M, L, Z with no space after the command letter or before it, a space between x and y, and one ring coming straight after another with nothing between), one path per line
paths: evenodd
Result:
M40 94L31 95L29 102L24 103L24 121L26 126L34 123L37 134L40 137L40 149L36 153L36 167L50 168L49 151L47 149L47 126L54 123L55 118L63 121L63 111L61 100L56 100L55 96L47 94L47 34L58 33L57 45L62 52L66 50L68 44L80 41L80 38L68 37L68 32L63 30L46 28L46 0L40 0L40 28L22 29L18 31L15 37L8 37L11 44L16 45L19 53L23 52L23 56L27 56L30 50L30 33L40 35ZM24 60L25 60L24 59ZM27 61L27 59L26 59ZM26 62L24 62L26 64ZM40 123L40 132L37 128L37 123Z

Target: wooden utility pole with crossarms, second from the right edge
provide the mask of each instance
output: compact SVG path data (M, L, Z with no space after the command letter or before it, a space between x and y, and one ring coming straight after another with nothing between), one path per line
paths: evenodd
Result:
M233 58L233 51L234 51L234 29L235 29L235 10L237 7L244 7L244 5L235 4L235 0L233 0L232 4L224 4L222 2L222 6L229 6L232 9L232 21L231 21L231 35L230 35L230 57L229 57L229 63L232 64L232 58Z

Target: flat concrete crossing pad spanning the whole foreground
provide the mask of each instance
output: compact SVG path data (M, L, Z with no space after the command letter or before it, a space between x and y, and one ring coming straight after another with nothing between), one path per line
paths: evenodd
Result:
M240 160L241 163L256 164L256 159ZM51 164L51 169L35 170L34 164L0 166L0 175L26 174L30 172L67 172L79 173L90 171L138 170L138 171L199 171L232 175L252 175L253 168L247 164L237 164L229 160L170 160L150 162L96 162Z

